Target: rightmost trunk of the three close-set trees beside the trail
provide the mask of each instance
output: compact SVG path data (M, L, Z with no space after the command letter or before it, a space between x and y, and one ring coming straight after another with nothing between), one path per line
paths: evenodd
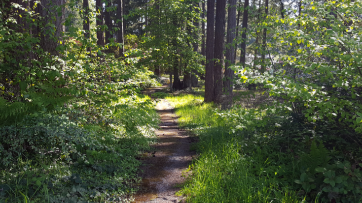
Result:
M247 0L245 0L247 1ZM236 0L229 0L229 8L227 11L227 35L226 35L226 61L225 61L225 81L224 81L224 94L226 95L227 103L225 108L231 107L232 90L234 71L229 68L230 65L235 64L234 58L234 39L236 28Z

